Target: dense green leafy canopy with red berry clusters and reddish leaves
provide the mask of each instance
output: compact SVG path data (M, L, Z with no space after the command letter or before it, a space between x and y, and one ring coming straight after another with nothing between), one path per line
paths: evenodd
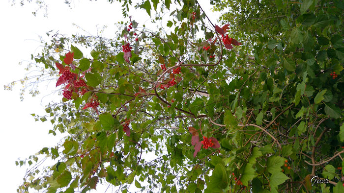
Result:
M68 137L39 151L53 166L16 162L34 165L18 192L105 181L119 192L344 192L343 1L211 0L220 21L197 0L135 2L166 23L154 30L119 2L115 38L54 34L32 56L62 94L33 116Z

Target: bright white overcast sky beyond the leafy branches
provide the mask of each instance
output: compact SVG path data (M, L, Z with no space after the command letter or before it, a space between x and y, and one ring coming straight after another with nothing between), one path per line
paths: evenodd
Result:
M21 7L19 4L11 6L7 0L0 0L0 131L2 134L0 140L0 166L2 168L0 192L3 193L16 192L18 186L23 182L26 169L29 168L29 165L22 168L16 166L15 161L18 158L25 159L43 147L57 145L63 135L59 133L56 136L48 135L49 130L53 129L51 122L36 122L30 115L35 113L43 116L46 114L45 105L49 102L61 101L62 96L57 95L58 88L55 87L55 80L43 82L39 87L41 94L38 96L32 97L27 92L24 101L20 101L19 93L22 88L20 82L13 87L12 91L5 91L2 86L20 80L28 74L28 71L24 69L29 62L32 62L31 54L36 55L41 50L42 44L39 42L39 36L49 40L46 32L58 30L60 34L67 36L88 33L97 35L101 27L107 25L101 36L112 38L116 31L114 24L128 20L128 18L122 17L121 7L117 2L110 4L106 0L74 0L72 9L64 4L63 0L46 0L46 2L49 4L47 18L43 17L43 10L38 12L36 17L32 15L31 12L36 8L35 3L27 3ZM201 6L212 22L216 23L219 14L209 10L211 6L206 0L201 1ZM132 8L129 15L133 16L133 20L139 22L139 26L145 24L146 27L155 29L154 25L149 24L150 18L145 10ZM165 20L169 19L169 15L164 16ZM86 32L73 23L82 27ZM166 27L166 24L163 24L163 27ZM90 57L89 52L84 52L84 57ZM22 62L21 66L18 65L19 62ZM33 74L34 72L31 72L29 75ZM55 164L55 162L51 163ZM107 186L97 186L96 192L105 192L106 188ZM112 192L112 189L109 188L108 192Z

